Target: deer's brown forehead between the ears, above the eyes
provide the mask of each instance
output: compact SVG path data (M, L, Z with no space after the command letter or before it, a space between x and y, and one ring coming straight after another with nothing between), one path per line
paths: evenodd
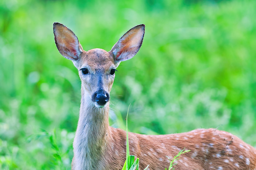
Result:
M91 49L81 56L81 67L89 66L92 70L109 69L114 66L113 57L100 48Z

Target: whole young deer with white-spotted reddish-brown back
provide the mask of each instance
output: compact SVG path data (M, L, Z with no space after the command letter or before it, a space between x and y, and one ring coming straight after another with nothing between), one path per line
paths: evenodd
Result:
M126 159L126 132L109 126L109 92L121 61L131 59L140 49L145 25L125 33L107 52L95 48L84 51L77 36L66 26L54 23L59 52L72 60L81 79L81 106L73 143L73 170L122 169ZM164 170L186 147L175 169L256 169L256 149L238 137L216 129L196 129L170 135L129 133L130 154L140 159L140 167Z

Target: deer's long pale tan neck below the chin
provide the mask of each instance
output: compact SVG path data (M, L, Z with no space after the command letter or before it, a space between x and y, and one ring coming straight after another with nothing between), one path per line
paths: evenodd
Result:
M82 89L78 127L74 138L76 169L96 169L110 138L108 122L109 104L95 107Z

